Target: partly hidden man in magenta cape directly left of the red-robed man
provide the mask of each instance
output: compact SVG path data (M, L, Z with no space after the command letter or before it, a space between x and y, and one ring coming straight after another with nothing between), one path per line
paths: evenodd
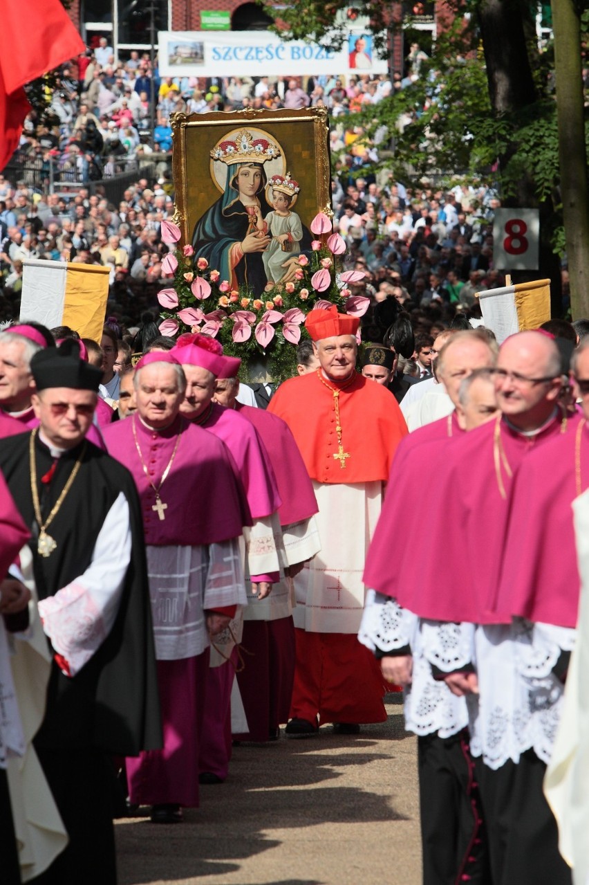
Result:
M237 401L240 365L241 360L226 358L226 368L218 374L215 399L256 427L271 458L282 500L279 520L288 563L287 574L272 586L272 594L263 600L248 596L244 612L243 645L249 655L237 673L237 682L248 727L233 736L264 743L278 737L279 725L287 721L290 712L295 678L293 578L321 545L314 519L317 501L295 438L277 415Z

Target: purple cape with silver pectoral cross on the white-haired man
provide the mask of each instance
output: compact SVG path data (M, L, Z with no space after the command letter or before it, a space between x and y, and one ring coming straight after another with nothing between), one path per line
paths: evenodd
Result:
M156 494L143 471L133 427L149 479L156 488L181 434L172 468L159 493L167 504L164 519L152 509ZM133 474L142 503L146 543L217 543L239 537L242 527L251 525L248 502L225 446L200 427L178 418L158 433L135 414L105 427L104 438L111 455Z

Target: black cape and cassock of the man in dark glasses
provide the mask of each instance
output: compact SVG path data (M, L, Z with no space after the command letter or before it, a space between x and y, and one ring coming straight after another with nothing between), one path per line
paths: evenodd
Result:
M125 586L111 632L73 677L53 662L42 727L34 738L45 776L70 835L70 844L39 885L114 885L114 798L111 755L136 756L162 746L156 658L142 517L134 480L126 467L92 443L85 445L80 472L48 533L57 549L37 551L29 458L30 434L0 441L0 470L32 539L34 578L40 599L78 578L92 561L104 519L122 492L129 505L133 545ZM65 487L81 446L54 460L34 441L42 519Z

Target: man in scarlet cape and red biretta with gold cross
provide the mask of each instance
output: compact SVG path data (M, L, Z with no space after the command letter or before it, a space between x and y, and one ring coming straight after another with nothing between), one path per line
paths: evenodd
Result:
M313 481L321 551L295 578L296 669L287 735L340 734L386 720L385 686L358 643L362 571L394 452L407 427L389 390L356 373L359 319L313 310L316 372L282 384L268 411L287 422Z

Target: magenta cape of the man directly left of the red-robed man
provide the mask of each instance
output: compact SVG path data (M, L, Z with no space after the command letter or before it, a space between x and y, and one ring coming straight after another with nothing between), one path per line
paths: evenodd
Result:
M237 412L256 427L270 455L282 498L280 525L309 519L319 508L301 452L285 421L265 409L253 409L241 403L237 404Z

